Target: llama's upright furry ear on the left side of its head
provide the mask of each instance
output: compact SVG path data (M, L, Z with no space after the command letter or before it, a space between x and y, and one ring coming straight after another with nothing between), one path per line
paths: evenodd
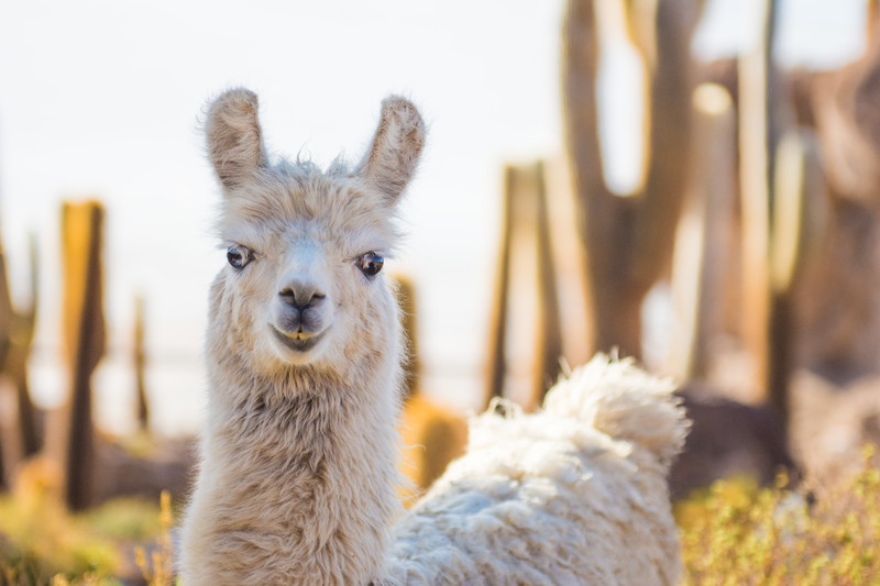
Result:
M226 190L266 166L256 110L256 93L243 88L226 91L208 109L208 156Z

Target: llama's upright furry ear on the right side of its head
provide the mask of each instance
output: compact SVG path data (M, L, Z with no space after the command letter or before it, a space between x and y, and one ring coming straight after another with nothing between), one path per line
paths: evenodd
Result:
M395 203L404 192L425 145L425 122L413 103L396 96L382 101L382 115L356 174Z

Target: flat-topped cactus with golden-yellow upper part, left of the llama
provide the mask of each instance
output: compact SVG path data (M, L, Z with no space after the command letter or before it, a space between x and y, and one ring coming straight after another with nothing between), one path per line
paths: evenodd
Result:
M96 201L62 208L63 330L70 368L65 498L70 509L91 498L95 445L91 374L105 352L101 245L103 208Z

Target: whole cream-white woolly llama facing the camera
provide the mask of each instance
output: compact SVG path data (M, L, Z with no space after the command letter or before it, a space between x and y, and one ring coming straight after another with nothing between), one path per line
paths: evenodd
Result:
M228 264L210 290L209 401L182 530L187 586L674 584L672 385L597 356L543 410L497 401L409 512L396 421L404 349L382 273L425 125L383 101L354 168L270 162L257 99L206 121Z

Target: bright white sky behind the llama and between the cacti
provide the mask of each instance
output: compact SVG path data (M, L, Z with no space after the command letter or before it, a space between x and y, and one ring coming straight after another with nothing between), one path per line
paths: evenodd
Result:
M694 51L748 46L756 5L714 0ZM223 262L209 231L219 192L199 119L211 97L244 86L260 95L270 151L319 164L340 152L360 157L386 95L420 108L428 145L392 266L419 288L429 383L466 405L481 385L503 165L562 152L562 0L0 0L0 234L20 301L28 234L40 241L37 401L57 405L66 385L53 295L59 202L99 198L110 328L99 419L118 432L131 421L128 352L141 294L156 427L198 427L207 288ZM780 58L845 63L861 47L861 11L864 0L784 1ZM625 191L637 168L638 66L624 45L614 55L603 77L618 97L604 113L616 129L606 164Z

